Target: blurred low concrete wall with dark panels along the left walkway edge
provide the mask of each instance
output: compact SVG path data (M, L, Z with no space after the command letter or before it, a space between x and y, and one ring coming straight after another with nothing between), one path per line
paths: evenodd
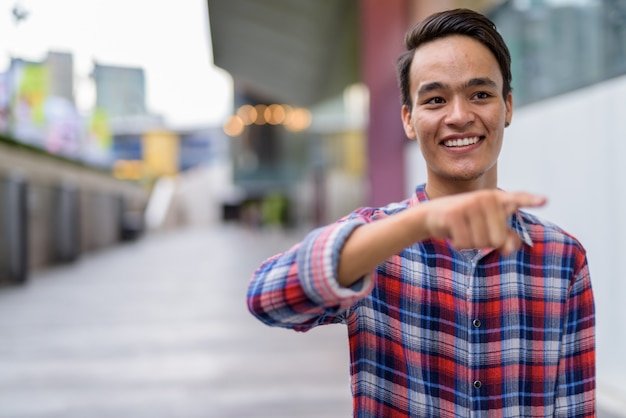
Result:
M107 171L0 141L0 282L136 238L147 197Z

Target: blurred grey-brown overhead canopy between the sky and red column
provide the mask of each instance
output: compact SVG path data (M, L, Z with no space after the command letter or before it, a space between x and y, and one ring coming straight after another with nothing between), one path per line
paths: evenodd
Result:
M207 0L213 59L246 93L298 106L358 81L356 0Z

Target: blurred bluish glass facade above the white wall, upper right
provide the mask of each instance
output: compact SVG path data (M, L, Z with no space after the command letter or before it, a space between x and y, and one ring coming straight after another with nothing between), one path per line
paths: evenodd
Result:
M516 106L626 74L626 0L509 0L488 15L511 51Z

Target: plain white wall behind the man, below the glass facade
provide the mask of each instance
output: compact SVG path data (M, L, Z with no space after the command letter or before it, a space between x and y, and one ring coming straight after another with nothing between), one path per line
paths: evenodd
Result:
M548 196L533 212L587 249L599 404L626 403L626 77L515 109L504 141L500 187ZM414 143L406 156L412 190L424 163Z

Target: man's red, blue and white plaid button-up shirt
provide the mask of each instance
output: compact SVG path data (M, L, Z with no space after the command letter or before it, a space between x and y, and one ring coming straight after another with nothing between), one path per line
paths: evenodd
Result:
M269 325L345 323L356 417L593 417L595 315L585 250L524 212L504 257L418 242L353 288L340 249L359 225L426 201L361 208L255 272L248 307Z

